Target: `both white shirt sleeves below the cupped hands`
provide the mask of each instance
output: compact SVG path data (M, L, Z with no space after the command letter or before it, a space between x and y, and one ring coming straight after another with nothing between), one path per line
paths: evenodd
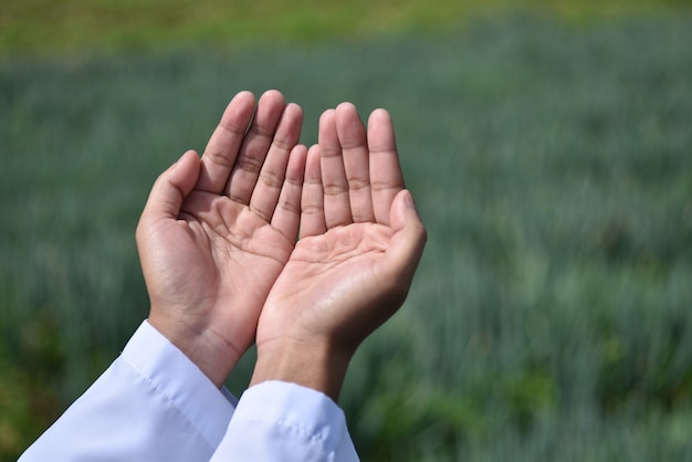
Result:
M235 400L148 322L20 458L29 461L357 461L327 396L268 381Z

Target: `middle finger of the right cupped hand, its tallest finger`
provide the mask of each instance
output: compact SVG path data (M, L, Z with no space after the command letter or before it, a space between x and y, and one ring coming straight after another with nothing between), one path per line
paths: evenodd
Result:
M375 221L370 191L370 161L365 127L356 107L343 103L336 108L336 132L348 180L350 214L355 223Z

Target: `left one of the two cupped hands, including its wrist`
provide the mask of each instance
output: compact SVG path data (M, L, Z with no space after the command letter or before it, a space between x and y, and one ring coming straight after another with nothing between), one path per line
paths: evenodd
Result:
M254 340L293 251L306 148L303 114L281 93L239 93L201 159L155 182L137 227L149 323L220 386Z

